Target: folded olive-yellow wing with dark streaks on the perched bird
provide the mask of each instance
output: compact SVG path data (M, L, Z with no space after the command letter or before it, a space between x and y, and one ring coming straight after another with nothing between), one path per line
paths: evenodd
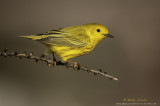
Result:
M80 47L85 46L89 41L89 36L85 32L85 30L76 28L64 31L64 30L51 30L45 34L38 34L45 36L38 41L55 46L72 46L72 47Z

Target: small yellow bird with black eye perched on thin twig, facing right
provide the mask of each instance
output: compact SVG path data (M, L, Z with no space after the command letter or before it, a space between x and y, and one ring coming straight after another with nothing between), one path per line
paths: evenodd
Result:
M63 61L89 53L105 37L113 38L108 29L98 23L90 23L55 29L37 35L19 36L38 41L46 45Z

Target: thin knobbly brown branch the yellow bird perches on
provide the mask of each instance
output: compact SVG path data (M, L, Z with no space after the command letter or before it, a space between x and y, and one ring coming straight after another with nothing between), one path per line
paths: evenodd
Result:
M11 57L11 58L19 57L19 58L33 59L37 63L38 63L38 61L44 61L47 63L48 66L66 66L67 68L73 68L74 70L78 70L78 71L84 70L87 72L91 72L94 75L99 74L99 75L102 75L102 76L109 78L110 80L118 81L118 78L109 75L107 72L102 72L102 69L92 70L88 66L81 66L79 63L77 65L77 67L75 67L73 64L69 64L68 62L65 62L65 63L61 62L61 61L56 62L56 61L51 60L50 58L45 58L44 55L35 56L35 55L33 55L33 52L30 52L29 54L27 54L25 51L24 51L24 53L8 52L8 49L6 48L0 52L0 56Z

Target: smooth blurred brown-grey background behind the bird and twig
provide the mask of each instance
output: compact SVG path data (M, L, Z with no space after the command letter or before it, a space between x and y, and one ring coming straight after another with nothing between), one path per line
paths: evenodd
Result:
M124 98L160 101L159 0L1 0L0 49L34 52L46 48L17 35L101 23L114 39L73 58L119 78L0 57L0 106L115 106Z

